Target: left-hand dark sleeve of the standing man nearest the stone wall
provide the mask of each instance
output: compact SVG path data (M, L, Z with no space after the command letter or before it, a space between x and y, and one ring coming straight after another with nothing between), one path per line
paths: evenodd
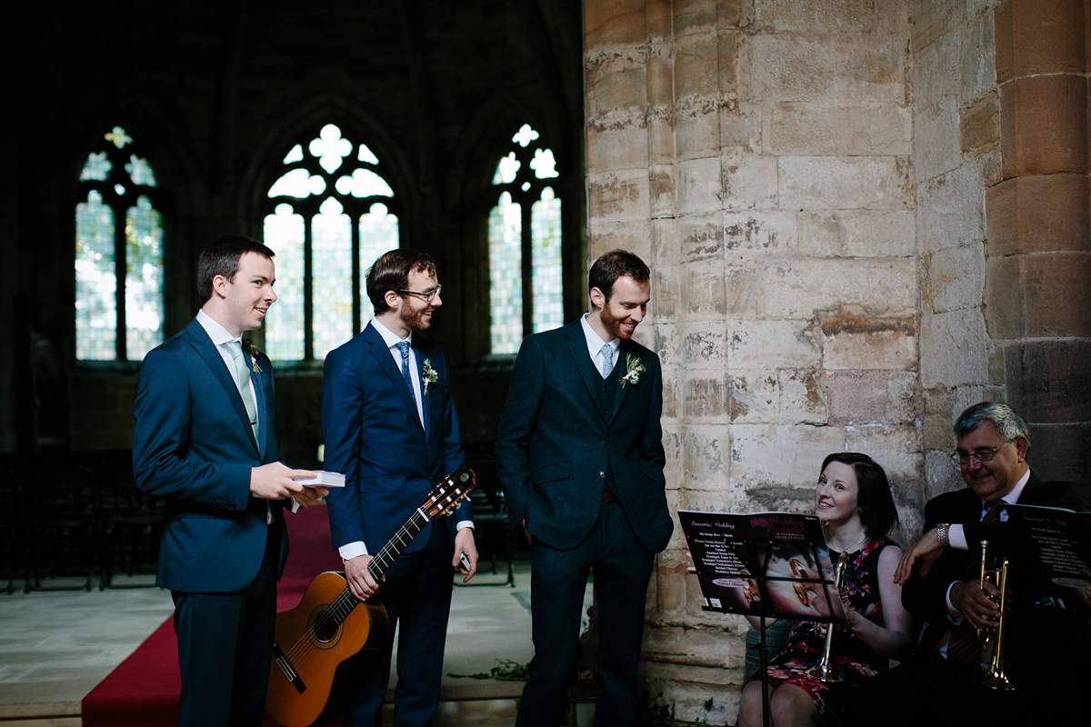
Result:
M512 367L507 403L496 433L496 468L513 522L527 517L530 497L530 438L546 392L546 365L538 337L523 341Z

